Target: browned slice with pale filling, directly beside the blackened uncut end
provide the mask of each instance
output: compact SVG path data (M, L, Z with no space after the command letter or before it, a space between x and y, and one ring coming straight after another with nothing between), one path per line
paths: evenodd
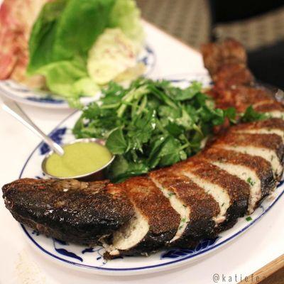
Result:
M136 214L109 239L104 239L105 258L147 255L173 239L180 225L180 215L147 176L109 186L125 190Z

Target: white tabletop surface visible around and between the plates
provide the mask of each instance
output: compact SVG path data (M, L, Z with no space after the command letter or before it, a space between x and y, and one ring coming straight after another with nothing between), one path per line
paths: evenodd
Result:
M148 43L155 50L157 63L151 77L187 72L204 72L196 50L145 23ZM71 111L52 111L23 106L27 114L46 133ZM18 178L24 161L40 142L9 114L0 110L1 186ZM26 236L0 200L0 283L1 284L89 284L89 283L237 283L284 252L284 198L275 204L244 235L190 266L160 273L131 277L105 277L72 271L45 258L32 248ZM224 275L224 277L223 277ZM230 278L232 280L230 281ZM215 281L218 280L214 276Z

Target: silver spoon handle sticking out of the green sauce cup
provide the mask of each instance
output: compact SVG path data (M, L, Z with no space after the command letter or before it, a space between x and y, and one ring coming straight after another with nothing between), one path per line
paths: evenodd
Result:
M4 111L7 111L9 114L11 114L13 117L18 119L24 126L28 127L33 133L35 133L37 136L39 136L45 143L50 146L50 148L55 151L58 155L63 155L64 150L58 143L55 143L49 136L45 135L43 131L41 131L38 126L36 126L33 121L23 112L21 107L16 104L16 102L13 102L11 100L4 99L2 108Z

